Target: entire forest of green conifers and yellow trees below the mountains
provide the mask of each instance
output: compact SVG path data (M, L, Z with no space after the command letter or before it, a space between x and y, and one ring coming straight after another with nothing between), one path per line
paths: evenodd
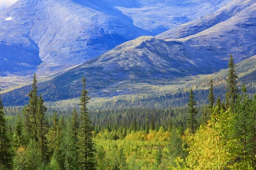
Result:
M0 170L256 170L255 90L238 83L232 55L228 66L227 86L211 78L207 90L148 97L151 107L95 109L84 77L78 106L53 107L34 74L25 106L0 98Z

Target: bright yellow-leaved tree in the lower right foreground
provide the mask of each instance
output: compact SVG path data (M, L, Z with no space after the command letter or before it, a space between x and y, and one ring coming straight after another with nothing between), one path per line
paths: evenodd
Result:
M188 137L189 155L185 160L177 158L176 170L252 170L249 162L237 160L243 155L241 145L234 137L234 116L221 110L211 116L206 127Z

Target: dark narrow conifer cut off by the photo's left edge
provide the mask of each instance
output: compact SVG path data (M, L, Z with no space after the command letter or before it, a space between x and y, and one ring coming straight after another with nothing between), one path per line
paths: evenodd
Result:
M0 96L0 168L9 168L11 166L11 145L7 135L6 118L4 106Z

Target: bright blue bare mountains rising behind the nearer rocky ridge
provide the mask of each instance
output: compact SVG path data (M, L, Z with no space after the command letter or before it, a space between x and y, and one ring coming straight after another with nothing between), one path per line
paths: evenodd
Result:
M53 74L212 13L226 1L19 0L0 13L0 75Z

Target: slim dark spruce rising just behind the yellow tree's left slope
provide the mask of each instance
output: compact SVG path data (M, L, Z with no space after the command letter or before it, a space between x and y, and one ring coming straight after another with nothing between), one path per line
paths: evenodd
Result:
M189 106L188 106L188 113L189 117L187 119L187 127L189 128L189 132L192 134L195 134L196 128L198 126L198 122L195 119L195 115L198 113L198 111L195 108L195 95L193 94L193 90L189 91Z

